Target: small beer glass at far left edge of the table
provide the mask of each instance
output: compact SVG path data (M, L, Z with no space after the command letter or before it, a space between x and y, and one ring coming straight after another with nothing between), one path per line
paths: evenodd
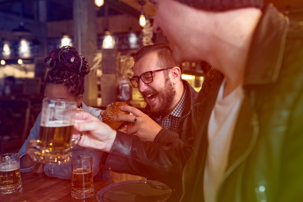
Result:
M8 195L22 191L20 157L18 153L0 155L0 194Z

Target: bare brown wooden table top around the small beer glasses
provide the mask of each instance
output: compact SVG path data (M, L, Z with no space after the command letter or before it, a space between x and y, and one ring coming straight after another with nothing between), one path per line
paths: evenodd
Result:
M98 201L97 193L112 182L94 182L95 194L87 199L74 199L71 196L72 180L48 177L33 172L21 173L23 189L20 193L1 196L0 201L33 202L33 201Z

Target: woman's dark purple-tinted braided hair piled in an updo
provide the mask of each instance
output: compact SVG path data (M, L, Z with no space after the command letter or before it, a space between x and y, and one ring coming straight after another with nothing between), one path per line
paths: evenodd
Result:
M84 77L90 71L86 58L75 47L63 46L52 50L45 58L50 70L45 77L45 86L61 84L75 97L84 93Z

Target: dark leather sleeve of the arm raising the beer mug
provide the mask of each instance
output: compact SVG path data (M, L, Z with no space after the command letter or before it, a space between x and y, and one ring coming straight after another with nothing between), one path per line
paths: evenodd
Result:
M182 171L192 151L191 140L183 147L165 147L118 131L105 169L181 186Z

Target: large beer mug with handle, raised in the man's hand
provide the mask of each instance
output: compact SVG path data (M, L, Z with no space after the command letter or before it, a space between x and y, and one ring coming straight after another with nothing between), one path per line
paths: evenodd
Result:
M72 139L77 104L75 101L45 98L34 158L44 164L63 164L71 160Z

